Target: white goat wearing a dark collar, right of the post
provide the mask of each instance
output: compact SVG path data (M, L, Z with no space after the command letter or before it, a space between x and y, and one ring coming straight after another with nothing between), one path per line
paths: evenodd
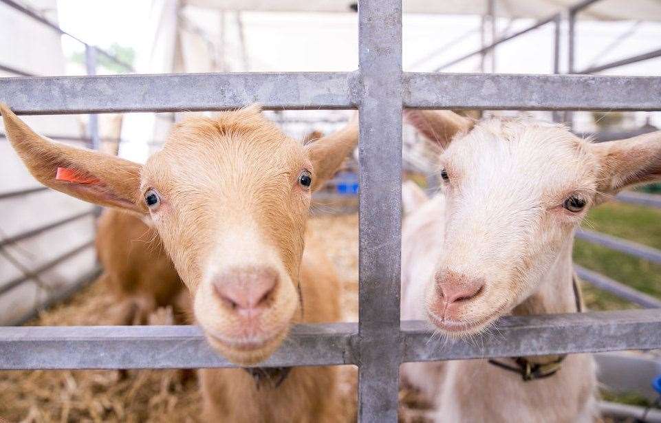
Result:
M506 314L577 312L579 222L625 186L661 179L661 132L592 144L534 120L405 116L445 150L441 193L404 196L413 211L402 230L402 318L429 319L450 338L488 332ZM593 358L562 358L411 363L402 378L435 399L439 422L592 421Z

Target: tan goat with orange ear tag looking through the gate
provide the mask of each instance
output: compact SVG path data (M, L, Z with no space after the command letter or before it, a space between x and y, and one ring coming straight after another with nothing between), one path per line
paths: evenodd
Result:
M310 244L305 252L303 246L310 193L354 149L354 122L303 147L255 107L188 118L141 166L56 144L8 107L0 111L14 149L41 183L149 213L208 343L232 362L268 358L292 323L340 317L340 286L323 246ZM56 180L58 168L83 182ZM243 369L200 374L209 421L337 420L334 367L265 369L261 382Z

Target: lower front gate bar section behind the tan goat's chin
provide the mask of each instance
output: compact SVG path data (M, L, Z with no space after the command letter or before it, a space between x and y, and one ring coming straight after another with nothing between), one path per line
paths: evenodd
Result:
M351 364L352 323L297 325L264 367ZM0 327L0 369L236 367L197 326Z

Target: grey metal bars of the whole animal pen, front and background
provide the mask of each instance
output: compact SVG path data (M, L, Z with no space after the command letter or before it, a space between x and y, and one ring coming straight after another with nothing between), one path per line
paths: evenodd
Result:
M97 50L88 45L90 76L31 77L13 69L18 77L0 78L0 100L7 102L17 114L90 113L89 145L93 148L99 145L95 113L214 111L252 102L260 102L265 109L357 108L360 111L358 323L298 325L290 334L290 342L263 366L356 365L360 421L395 422L402 362L661 348L661 301L584 268L576 269L582 279L644 310L511 316L499 321L499 336L480 336L473 343L430 341L433 329L427 323L400 322L404 107L567 113L661 111L661 76L594 75L661 56L661 50L589 69L574 67L576 15L598 1L576 3L566 14L542 19L464 57L485 54L496 45L542 25L555 25L554 75L403 72L401 0L360 0L360 66L356 72L94 76ZM1 2L34 14L12 0ZM33 17L52 25L36 14ZM563 21L569 28L570 74L559 74L559 34ZM1 193L0 199L30 195L42 189L45 188ZM658 197L642 193L622 193L618 200L661 207ZM94 210L3 239L0 247L91 213ZM661 251L653 248L587 230L578 232L578 237L661 263ZM0 295L91 245L90 242L80 246L32 274L0 286ZM86 275L85 281L90 277ZM67 294L63 292L60 296ZM195 326L0 327L0 369L4 370L208 367L234 365L210 349Z

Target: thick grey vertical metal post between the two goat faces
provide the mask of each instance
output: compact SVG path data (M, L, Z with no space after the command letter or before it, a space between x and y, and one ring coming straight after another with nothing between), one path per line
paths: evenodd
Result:
M358 22L363 90L358 418L396 422L402 356L402 0L362 0Z

